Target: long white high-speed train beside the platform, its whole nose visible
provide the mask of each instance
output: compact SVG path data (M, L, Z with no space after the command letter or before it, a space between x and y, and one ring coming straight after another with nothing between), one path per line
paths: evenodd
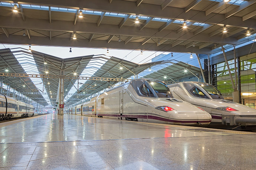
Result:
M135 79L66 109L68 114L175 125L206 126L211 115L173 98L165 82Z

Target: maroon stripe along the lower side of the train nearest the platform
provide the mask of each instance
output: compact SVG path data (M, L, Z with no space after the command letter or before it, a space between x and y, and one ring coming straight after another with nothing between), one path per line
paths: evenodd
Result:
M172 119L166 119L161 118L158 116L152 116L152 115L117 115L117 114L97 114L98 116L109 116L109 117L122 117L122 118L139 118L139 119L154 119L154 120L161 120L165 122L175 122L175 123L197 123L198 120L172 120ZM199 121L200 123L209 123L211 120L202 120Z

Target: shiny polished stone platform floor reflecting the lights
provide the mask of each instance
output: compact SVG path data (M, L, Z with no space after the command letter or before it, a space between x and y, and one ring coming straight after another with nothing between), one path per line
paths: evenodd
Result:
M256 133L42 115L0 124L0 170L255 170Z

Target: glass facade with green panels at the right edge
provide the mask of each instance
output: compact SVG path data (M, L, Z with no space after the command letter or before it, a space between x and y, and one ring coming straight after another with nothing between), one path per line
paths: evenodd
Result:
M229 60L229 67L235 83L234 78L234 59ZM212 65L213 78L212 84L221 92L223 97L232 101L232 82L229 76L226 62L220 62ZM240 57L240 77L237 78L237 82L241 84L241 100L242 104L256 109L256 53L245 55Z

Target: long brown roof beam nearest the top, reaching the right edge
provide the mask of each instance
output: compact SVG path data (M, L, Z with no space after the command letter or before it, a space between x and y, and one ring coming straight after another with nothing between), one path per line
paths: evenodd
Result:
M39 4L46 6L59 6L68 8L84 8L86 10L98 10L115 13L127 13L127 14L140 14L143 16L170 18L170 19L183 19L193 22L207 23L207 24L223 24L230 27L243 27L256 29L256 20L251 19L247 22L242 21L242 17L232 16L226 19L224 14L211 14L205 16L204 11L189 10L184 12L183 8L178 7L166 7L167 10L161 10L159 5L141 3L140 8L135 8L133 1L114 0L111 4L107 0L22 0L25 4ZM77 5L79 4L79 6ZM179 14L177 16L177 14Z

